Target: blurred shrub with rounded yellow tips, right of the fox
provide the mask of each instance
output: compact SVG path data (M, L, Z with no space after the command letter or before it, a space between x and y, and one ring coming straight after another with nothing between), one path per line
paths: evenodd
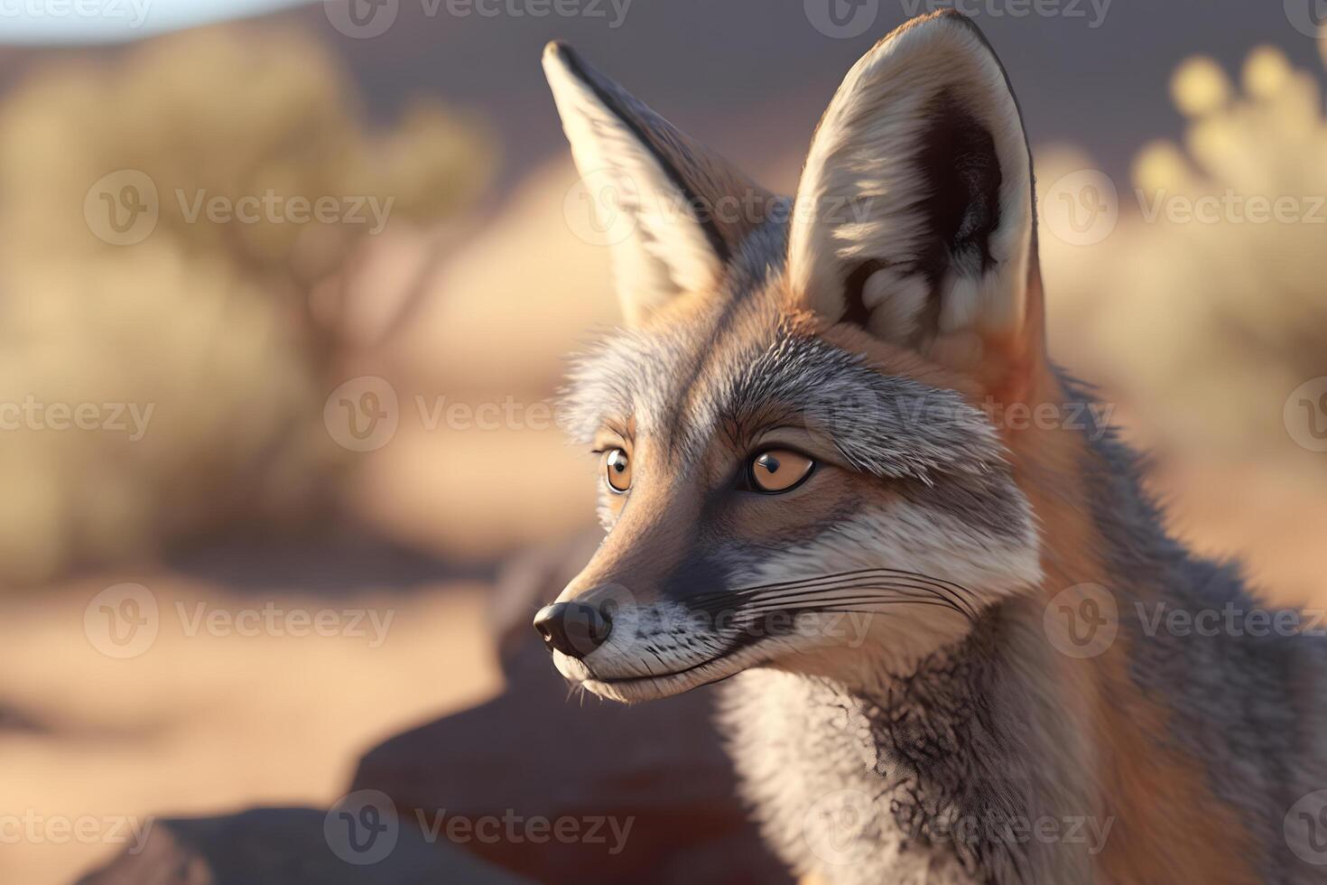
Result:
M1170 86L1188 119L1182 146L1139 154L1115 232L1084 247L1043 235L1056 336L1075 360L1096 354L1083 372L1143 413L1154 443L1320 467L1282 419L1291 390L1327 375L1318 80L1261 48L1241 89L1209 58L1186 61ZM1083 163L1050 161L1042 180Z

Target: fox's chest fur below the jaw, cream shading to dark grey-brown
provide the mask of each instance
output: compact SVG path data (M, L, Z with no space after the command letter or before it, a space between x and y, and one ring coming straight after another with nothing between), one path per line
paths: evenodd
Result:
M843 885L1087 881L1112 821L1054 813L1044 780L1068 747L1050 746L999 678L982 636L853 690L778 670L736 677L721 720L767 841L795 870ZM1060 804L1085 808L1071 793Z

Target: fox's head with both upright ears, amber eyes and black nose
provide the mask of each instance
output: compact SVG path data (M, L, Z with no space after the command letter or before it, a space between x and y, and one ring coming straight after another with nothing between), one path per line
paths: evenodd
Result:
M1032 169L1003 68L955 13L848 73L794 199L551 44L583 179L622 214L626 329L564 417L606 536L535 625L642 701L768 666L848 685L961 641L1042 580L990 403L1044 356Z

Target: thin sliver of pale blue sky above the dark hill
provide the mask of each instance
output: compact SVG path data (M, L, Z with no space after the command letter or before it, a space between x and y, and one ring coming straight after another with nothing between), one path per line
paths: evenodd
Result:
M0 44L113 42L305 0L0 0Z

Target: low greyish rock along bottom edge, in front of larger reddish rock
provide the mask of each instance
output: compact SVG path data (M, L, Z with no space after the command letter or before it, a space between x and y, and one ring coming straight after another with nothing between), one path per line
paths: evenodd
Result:
M126 851L84 876L78 885L527 882L466 852L427 844L406 821L398 823L395 841L381 858L346 854L336 835L337 823L333 819L332 829L325 829L328 812L313 808L255 808L223 817L158 820L141 852ZM353 862L360 860L373 862Z

